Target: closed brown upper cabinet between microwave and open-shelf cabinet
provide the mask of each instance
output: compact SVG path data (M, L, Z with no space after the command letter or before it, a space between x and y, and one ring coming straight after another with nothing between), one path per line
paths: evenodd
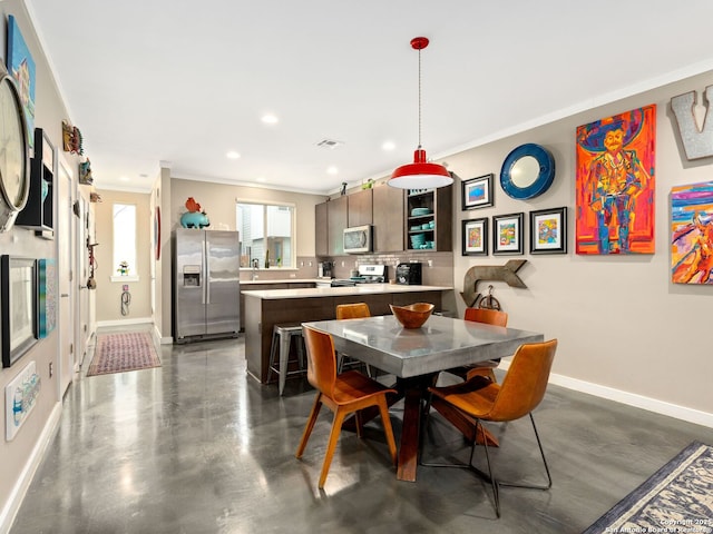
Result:
M388 185L373 188L374 253L401 251L403 247L403 189Z

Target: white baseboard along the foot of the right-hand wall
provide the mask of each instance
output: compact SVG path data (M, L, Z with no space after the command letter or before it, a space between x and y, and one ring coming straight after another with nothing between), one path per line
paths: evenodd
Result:
M500 362L499 368L506 370L509 366L510 362L504 359ZM678 406L656 398L645 397L635 393L623 392L621 389L614 389L613 387L602 386L554 373L549 375L549 383L575 392L607 398L636 408L647 409L648 412L713 428L713 414L700 409Z

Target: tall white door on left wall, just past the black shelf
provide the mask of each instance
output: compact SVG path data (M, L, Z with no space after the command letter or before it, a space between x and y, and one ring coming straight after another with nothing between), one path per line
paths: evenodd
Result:
M75 273L75 225L77 218L72 212L75 201L72 176L64 159L59 159L57 191L57 266L59 274L59 397L72 382L75 372L79 367L74 352L74 299L72 276Z

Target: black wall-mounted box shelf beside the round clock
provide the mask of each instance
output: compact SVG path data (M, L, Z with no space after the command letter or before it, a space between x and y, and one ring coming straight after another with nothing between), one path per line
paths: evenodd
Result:
M35 129L35 157L30 160L30 191L16 224L32 228L37 236L55 238L55 148L41 128Z

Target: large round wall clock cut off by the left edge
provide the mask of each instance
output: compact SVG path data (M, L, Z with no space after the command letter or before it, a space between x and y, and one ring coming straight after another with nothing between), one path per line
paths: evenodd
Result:
M0 231L12 228L30 191L28 137L20 93L0 65Z

